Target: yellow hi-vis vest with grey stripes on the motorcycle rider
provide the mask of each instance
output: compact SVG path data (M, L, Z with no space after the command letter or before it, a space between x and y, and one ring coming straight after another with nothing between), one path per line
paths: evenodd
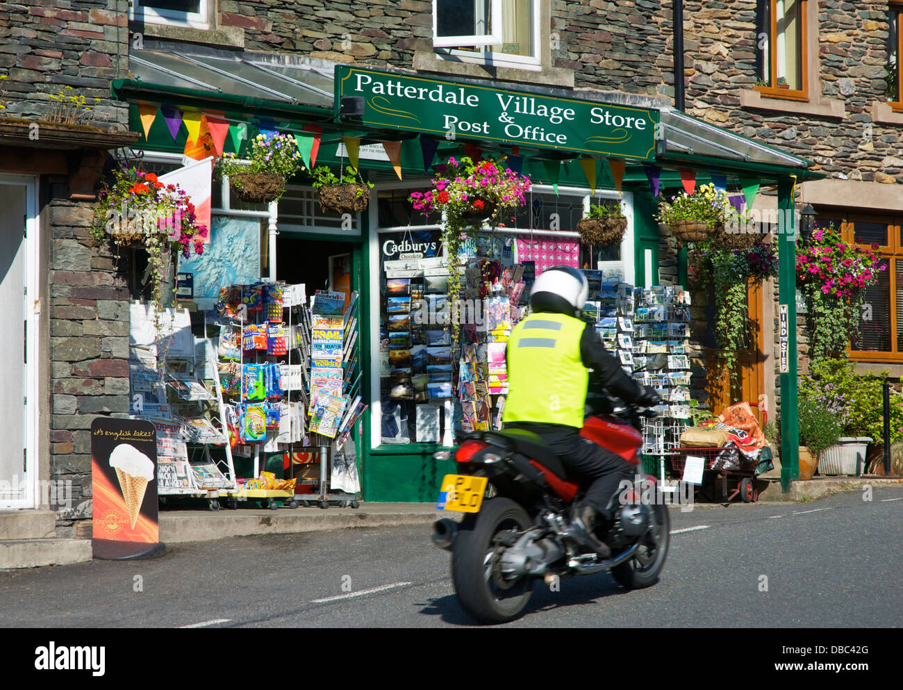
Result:
M507 343L502 421L582 427L589 380L580 356L585 326L573 316L539 312L514 327Z

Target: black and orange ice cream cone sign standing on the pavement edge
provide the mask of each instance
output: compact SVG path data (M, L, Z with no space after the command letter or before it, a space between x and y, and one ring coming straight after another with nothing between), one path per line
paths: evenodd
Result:
M156 466L154 424L110 417L91 424L95 558L136 558L162 549Z

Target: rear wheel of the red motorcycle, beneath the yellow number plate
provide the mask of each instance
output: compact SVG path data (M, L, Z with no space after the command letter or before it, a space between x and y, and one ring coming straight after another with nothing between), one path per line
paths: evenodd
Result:
M461 608L480 623L516 619L530 599L533 579L506 581L498 573L498 536L523 532L533 521L511 499L489 499L464 518L452 550L452 582Z

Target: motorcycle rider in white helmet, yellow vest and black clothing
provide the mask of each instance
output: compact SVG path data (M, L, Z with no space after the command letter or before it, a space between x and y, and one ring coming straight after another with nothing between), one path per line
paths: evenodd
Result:
M536 278L531 313L517 323L507 343L508 395L502 420L508 429L538 434L568 471L591 478L586 496L574 508L571 530L608 558L610 547L594 532L607 530L619 482L629 480L634 468L580 435L589 383L604 385L639 406L656 405L660 398L654 389L628 377L592 324L582 321L588 295L586 276L570 266L554 266Z

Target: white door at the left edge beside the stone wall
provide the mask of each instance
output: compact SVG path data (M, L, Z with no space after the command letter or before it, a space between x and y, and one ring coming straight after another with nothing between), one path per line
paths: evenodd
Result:
M38 256L35 185L0 175L0 509L33 508L37 476Z

